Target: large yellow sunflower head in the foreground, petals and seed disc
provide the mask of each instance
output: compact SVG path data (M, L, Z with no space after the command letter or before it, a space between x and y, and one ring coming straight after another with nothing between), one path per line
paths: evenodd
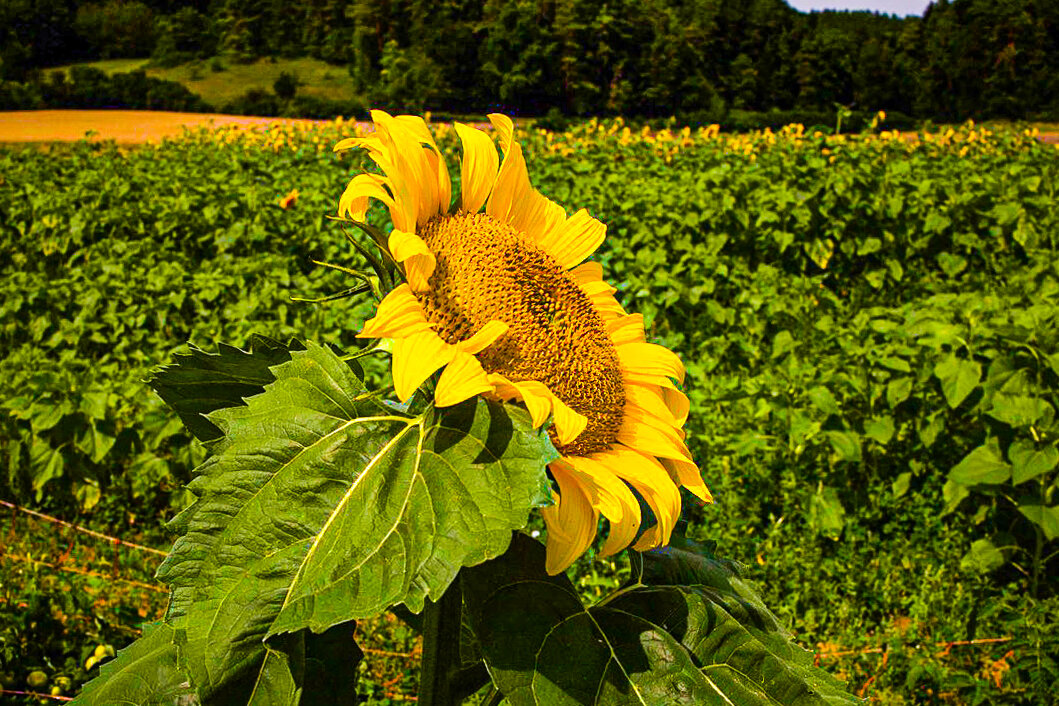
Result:
M427 124L373 111L375 133L335 150L364 148L382 174L353 178L339 217L363 221L372 199L390 211L387 241L405 284L379 303L358 337L392 339L393 381L403 401L442 369L438 406L475 395L520 401L560 457L558 486L542 509L548 571L567 568L610 523L604 556L668 543L680 514L679 486L711 502L684 443L688 400L675 381L684 366L644 336L598 263L584 261L606 227L530 184L522 147L505 115L485 132L455 125L463 145L459 204ZM484 209L483 209L484 206ZM443 369L444 368L444 369ZM638 492L657 523L639 540Z

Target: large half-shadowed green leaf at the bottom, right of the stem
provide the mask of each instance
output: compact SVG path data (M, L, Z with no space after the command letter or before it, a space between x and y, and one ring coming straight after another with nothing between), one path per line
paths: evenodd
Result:
M464 598L496 686L516 706L858 703L732 585L723 563L674 561L652 572L701 569L705 583L638 584L589 609L566 577L545 575L543 547L523 536L466 571Z

